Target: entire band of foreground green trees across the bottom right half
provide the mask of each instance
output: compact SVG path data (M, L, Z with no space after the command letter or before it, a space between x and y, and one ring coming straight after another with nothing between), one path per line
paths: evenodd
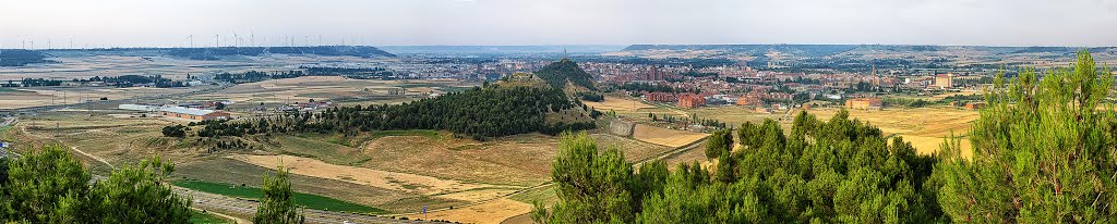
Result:
M552 164L558 202L540 223L1110 223L1117 216L1114 77L1088 52L987 91L971 157L953 136L917 154L844 110L717 132L715 163L632 167L614 147L564 135ZM1108 106L1111 108L1111 106ZM890 143L889 143L890 142Z

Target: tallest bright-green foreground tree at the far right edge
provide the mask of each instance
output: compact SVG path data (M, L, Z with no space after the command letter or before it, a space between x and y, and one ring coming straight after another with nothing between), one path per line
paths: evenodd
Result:
M938 201L956 222L1111 223L1117 208L1113 75L1087 51L1072 69L1024 69L987 89L971 126L972 158L943 144Z

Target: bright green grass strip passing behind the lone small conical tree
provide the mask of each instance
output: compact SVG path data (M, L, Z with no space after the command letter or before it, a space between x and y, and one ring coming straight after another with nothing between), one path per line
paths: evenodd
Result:
M202 181L176 181L172 182L174 186L189 188L199 192L212 193L227 195L232 197L241 198L260 198L264 193L260 188L249 187L249 186L233 186L228 184L219 184ZM335 212L357 212L357 213L371 213L371 214L384 214L388 211L359 205L351 202L345 202L341 199L334 199L330 197L324 197L313 194L295 193L295 203L314 210L323 211L335 211Z

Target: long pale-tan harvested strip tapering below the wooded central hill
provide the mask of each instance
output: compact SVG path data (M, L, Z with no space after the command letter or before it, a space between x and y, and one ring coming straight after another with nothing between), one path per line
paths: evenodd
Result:
M228 156L228 158L265 168L275 168L283 164L284 167L290 168L292 174L427 195L493 187L493 185L487 184L474 184L414 174L333 165L313 158L288 155L232 155Z

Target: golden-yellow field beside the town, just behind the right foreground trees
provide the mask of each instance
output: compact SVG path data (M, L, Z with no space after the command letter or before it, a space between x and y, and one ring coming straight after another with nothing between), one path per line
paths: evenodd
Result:
M838 113L836 108L809 110L819 119L830 119ZM977 119L977 111L953 107L926 107L914 109L849 110L850 118L867 121L880 128L884 134L904 136L919 153L938 152L938 146L953 132L965 137L970 124ZM962 139L963 156L970 154L970 142Z

